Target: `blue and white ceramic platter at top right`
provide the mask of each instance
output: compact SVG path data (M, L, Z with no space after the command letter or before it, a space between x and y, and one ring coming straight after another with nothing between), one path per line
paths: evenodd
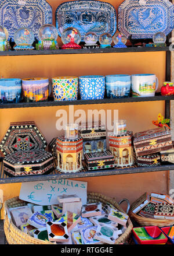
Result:
M174 6L169 0L125 0L118 8L118 30L127 37L152 38L174 28Z

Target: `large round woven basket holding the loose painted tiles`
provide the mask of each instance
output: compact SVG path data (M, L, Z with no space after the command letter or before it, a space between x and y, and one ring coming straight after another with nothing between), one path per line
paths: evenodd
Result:
M107 202L115 206L119 211L124 212L122 208L117 204L117 202L109 197L105 197L103 195L90 192L88 193L88 202L102 202L102 205L106 205ZM122 202L122 201L121 201ZM49 241L43 241L39 239L35 239L34 237L29 236L28 234L22 232L20 229L18 229L13 223L12 220L8 217L8 208L13 208L17 206L24 206L26 202L21 201L19 197L11 198L4 203L4 212L5 212L5 218L4 218L4 232L6 239L9 244L54 244ZM122 244L124 243L130 236L131 230L132 230L132 222L130 219L128 219L127 222L127 229L125 232L119 236L119 238L115 241L115 244Z

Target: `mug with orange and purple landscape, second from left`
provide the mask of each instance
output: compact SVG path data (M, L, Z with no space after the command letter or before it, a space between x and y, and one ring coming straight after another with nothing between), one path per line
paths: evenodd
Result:
M48 100L48 78L25 78L22 80L23 97L27 102Z

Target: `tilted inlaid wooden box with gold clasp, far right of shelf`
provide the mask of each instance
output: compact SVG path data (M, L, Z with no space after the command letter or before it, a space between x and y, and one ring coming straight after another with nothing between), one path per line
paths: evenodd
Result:
M173 148L171 132L165 127L137 132L134 135L133 144L136 157Z

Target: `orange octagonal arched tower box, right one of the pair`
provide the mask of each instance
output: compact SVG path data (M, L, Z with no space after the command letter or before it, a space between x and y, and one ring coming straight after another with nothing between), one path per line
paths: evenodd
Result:
M125 128L124 128L125 129ZM108 136L110 151L114 156L114 163L117 167L128 167L133 164L132 132L127 131L123 135Z

